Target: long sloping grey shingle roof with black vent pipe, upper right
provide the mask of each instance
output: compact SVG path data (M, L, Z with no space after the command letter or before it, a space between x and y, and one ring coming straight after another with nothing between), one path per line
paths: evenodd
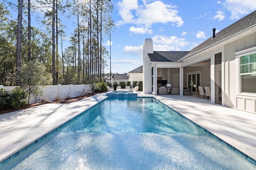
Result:
M244 29L247 29L253 25L256 24L256 11L252 12L251 14L245 16L244 18L236 21L232 25L222 29L220 32L216 33L215 37L210 37L194 49L192 49L186 56L184 56L182 59L185 59L187 57L190 57L192 54L201 51L207 47L210 47L211 45L218 43L236 33L239 33L240 31L243 31ZM180 59L180 61L182 60Z

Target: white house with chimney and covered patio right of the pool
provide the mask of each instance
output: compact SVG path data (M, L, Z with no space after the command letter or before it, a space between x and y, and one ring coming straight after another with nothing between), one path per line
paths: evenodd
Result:
M157 95L157 84L210 86L211 102L256 112L256 11L222 29L191 51L143 48L143 92Z

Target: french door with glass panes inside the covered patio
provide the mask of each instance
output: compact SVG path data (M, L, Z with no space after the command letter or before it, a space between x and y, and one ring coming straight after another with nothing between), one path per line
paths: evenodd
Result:
M188 88L191 92L198 92L198 86L200 86L200 73L201 71L188 72L187 73L187 82Z

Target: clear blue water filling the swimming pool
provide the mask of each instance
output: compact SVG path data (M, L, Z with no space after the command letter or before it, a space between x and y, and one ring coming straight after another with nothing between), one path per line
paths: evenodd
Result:
M154 98L104 100L0 169L256 169Z

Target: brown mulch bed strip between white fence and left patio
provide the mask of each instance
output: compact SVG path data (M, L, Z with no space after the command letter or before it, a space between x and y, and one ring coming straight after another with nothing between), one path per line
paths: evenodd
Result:
M39 106L39 105L47 104L47 103L64 103L64 104L68 104L68 103L72 103L72 102L76 102L78 100L82 100L82 99L88 98L88 97L93 96L95 94L98 94L98 93L88 94L88 95L81 96L81 97L76 97L76 98L69 98L69 99L66 99L66 100L59 100L59 101L55 101L55 102L26 104L25 106L22 106L22 107L19 107L19 108L2 110L2 111L0 111L0 114L8 113L8 112L11 112L11 111L17 111L17 110L21 110L21 109L27 109L29 107Z

